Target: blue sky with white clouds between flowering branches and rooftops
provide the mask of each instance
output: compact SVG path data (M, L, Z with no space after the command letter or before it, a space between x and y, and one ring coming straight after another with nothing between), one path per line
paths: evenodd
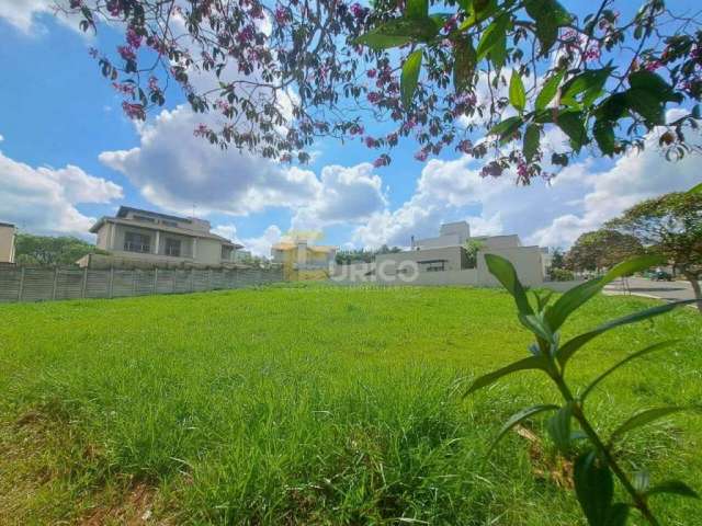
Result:
M636 201L699 181L698 158L670 164L655 148L616 161L584 156L551 185L517 187L510 176L480 179L480 163L456 153L415 161L410 142L373 169L377 152L335 140L316 145L308 167L283 172L194 137L200 117L176 90L135 126L88 56L92 45L113 49L118 35L86 37L54 19L50 3L0 0L0 220L24 231L90 239L95 218L128 204L186 215L194 206L259 253L291 229L324 231L341 247L406 245L458 219L476 233L567 247Z

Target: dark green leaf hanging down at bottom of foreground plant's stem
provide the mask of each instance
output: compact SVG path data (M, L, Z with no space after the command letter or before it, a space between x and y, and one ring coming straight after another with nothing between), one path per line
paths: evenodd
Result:
M588 523L592 526L605 525L614 495L614 481L609 467L598 462L595 451L584 453L575 461L573 481Z

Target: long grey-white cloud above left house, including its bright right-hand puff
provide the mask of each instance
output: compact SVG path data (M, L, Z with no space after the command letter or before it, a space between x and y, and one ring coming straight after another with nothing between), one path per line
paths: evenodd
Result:
M359 222L386 206L373 167L328 165L320 178L235 148L218 149L193 130L203 119L189 107L162 111L137 127L138 147L105 151L100 160L162 208L247 216L271 207L294 210L295 228Z

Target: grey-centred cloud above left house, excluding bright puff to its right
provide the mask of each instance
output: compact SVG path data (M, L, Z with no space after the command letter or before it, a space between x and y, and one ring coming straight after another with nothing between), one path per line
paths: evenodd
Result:
M285 170L194 137L204 118L185 106L165 110L152 124L137 128L138 147L105 151L100 160L124 173L151 203L173 210L195 204L204 213L247 215L269 206L302 206L315 198L320 183L313 172Z

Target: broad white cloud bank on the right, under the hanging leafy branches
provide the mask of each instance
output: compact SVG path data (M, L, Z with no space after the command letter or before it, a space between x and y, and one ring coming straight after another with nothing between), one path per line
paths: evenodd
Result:
M546 137L553 148L564 137ZM439 225L465 219L476 235L518 233L525 243L567 247L582 232L635 203L699 182L699 158L666 161L657 149L656 134L642 153L631 153L613 163L593 158L564 169L552 183L535 180L517 186L514 176L480 176L480 163L468 157L429 161L417 181L414 195L395 210L374 214L353 232L359 245L383 243L408 245L411 236L435 236Z

